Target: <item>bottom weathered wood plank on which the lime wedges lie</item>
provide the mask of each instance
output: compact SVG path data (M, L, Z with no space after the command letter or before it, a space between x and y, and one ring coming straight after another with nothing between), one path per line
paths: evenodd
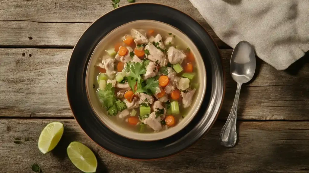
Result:
M37 139L51 121L64 123L58 146L48 154L37 149ZM37 163L43 172L80 172L66 155L72 141L89 146L99 161L97 172L306 172L309 158L308 122L239 122L239 142L224 148L218 142L223 122L188 150L167 159L142 162L110 154L92 142L75 120L1 119L0 171L31 172ZM20 138L21 143L13 141ZM29 139L29 141L25 141Z

